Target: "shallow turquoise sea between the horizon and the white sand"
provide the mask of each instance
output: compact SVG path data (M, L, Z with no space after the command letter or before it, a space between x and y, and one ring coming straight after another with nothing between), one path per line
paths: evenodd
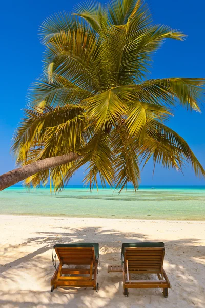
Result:
M71 186L50 195L10 187L0 192L0 214L205 221L205 186L140 186L137 192Z

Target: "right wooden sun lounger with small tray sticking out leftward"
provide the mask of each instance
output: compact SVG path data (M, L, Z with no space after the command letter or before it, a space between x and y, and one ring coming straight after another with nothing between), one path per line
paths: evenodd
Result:
M128 296L128 288L163 288L168 297L169 279L163 269L165 247L163 243L122 244L123 294ZM114 270L112 270L112 268ZM108 272L117 271L118 266L109 266ZM159 280L132 280L131 274L156 274Z

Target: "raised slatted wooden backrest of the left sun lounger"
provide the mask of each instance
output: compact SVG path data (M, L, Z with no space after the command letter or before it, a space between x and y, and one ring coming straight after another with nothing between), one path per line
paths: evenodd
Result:
M54 247L59 261L67 265L95 264L94 247Z

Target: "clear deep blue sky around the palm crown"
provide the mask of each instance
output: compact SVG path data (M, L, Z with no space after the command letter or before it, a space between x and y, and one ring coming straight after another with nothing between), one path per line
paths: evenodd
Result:
M101 1L106 2L106 1ZM71 11L77 1L15 0L1 5L1 150L0 174L15 167L10 155L14 129L22 117L26 93L31 82L42 71L43 46L38 40L38 27L51 14ZM188 35L185 42L166 41L155 54L150 78L205 77L205 2L198 0L149 0L155 23L167 24ZM202 114L189 113L178 108L169 126L189 143L205 167L205 108ZM155 169L150 162L142 172L143 185L204 185L195 178L191 168L184 175L161 167ZM70 184L81 184L83 170L78 171Z

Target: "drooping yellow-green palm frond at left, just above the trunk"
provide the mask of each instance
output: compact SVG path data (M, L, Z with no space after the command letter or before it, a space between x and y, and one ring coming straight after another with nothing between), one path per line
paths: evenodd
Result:
M69 105L63 108L47 106L42 110L25 110L25 118L13 137L12 151L17 157L17 163L28 164L28 162L33 162L33 159L39 160L57 154L61 155L63 151L64 153L72 151L76 143L81 142L81 130L86 124L84 109L80 106ZM65 134L67 137L70 134L68 139L67 137L65 139ZM64 140L59 144L58 141L61 139ZM28 160L30 152L32 159Z

